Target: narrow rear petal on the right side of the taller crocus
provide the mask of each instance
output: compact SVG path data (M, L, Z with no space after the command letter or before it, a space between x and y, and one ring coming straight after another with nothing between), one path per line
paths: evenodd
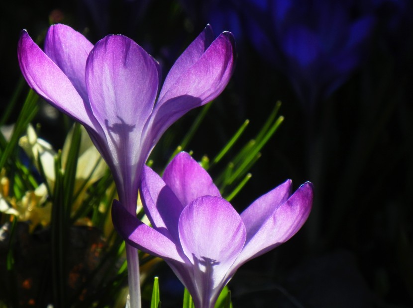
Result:
M182 55L175 62L174 66L165 78L159 97L167 92L175 81L185 73L204 54L213 41L213 32L210 25L207 25L198 37L188 46Z

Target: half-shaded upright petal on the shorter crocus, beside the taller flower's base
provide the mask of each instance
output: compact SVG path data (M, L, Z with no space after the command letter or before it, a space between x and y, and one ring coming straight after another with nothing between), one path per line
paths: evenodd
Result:
M178 222L184 207L171 188L156 172L144 166L140 191L152 227L169 239L179 242Z

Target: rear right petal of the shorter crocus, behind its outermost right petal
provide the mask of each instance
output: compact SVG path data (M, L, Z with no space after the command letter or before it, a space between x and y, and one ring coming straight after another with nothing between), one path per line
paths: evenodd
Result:
M292 181L287 180L255 200L241 213L241 219L247 230L247 241L255 235L268 217L290 197L291 189Z

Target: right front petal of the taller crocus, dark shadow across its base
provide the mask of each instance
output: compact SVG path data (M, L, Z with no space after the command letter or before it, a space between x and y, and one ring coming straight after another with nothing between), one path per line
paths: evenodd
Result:
M157 136L189 110L206 104L223 91L233 72L234 57L234 38L230 32L223 32L197 62L175 78L167 91L161 90L165 94L155 107L151 126Z

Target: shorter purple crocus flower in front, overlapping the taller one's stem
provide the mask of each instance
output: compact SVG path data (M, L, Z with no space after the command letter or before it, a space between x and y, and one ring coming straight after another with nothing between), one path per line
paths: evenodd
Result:
M236 270L291 238L307 220L312 184L292 194L287 180L241 215L223 199L208 173L180 153L159 177L145 167L141 198L153 228L113 201L112 220L125 240L169 264L196 308L212 308Z

